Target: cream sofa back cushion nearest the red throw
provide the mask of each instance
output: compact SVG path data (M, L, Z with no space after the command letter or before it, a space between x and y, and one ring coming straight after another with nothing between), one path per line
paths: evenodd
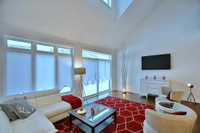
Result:
M36 108L44 107L47 105L55 104L61 101L59 93L35 98Z

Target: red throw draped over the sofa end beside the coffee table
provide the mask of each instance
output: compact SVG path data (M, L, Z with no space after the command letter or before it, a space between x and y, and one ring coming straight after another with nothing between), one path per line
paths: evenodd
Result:
M70 103L73 109L76 109L82 106L81 99L73 95L64 95L62 96L62 100Z

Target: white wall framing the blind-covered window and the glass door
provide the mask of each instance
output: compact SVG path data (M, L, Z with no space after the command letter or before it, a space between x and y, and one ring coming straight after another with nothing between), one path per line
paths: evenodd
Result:
M31 30L27 30L24 29L22 27L17 27L11 24L4 24L0 22L0 96L3 95L3 83L4 83L4 77L3 77L3 45L4 45L4 35L9 35L9 36L14 36L14 37L20 37L20 38L25 38L25 39L30 39L30 40L37 40L37 41L42 41L42 42L48 42L48 43L53 43L53 44L59 44L59 45L66 45L69 47L72 47L74 49L74 67L81 67L82 66L82 49L86 49L86 50L92 50L92 51L96 51L96 52L102 52L102 53L107 53L107 54L112 54L113 55L113 64L115 63L115 53L111 50L106 50L106 49L101 49L98 47L91 47L91 46L87 46L85 44L82 43L78 43L78 42L73 42L73 41L69 41L63 38L59 38L58 36L51 36L48 34L42 34L39 32L34 32ZM115 76L115 65L113 65L112 67L113 70L113 77ZM79 86L79 88L77 88L78 83L80 80L80 76L74 76L74 89L76 89L75 91L77 91L77 89L81 89ZM113 88L115 88L115 80L113 78L112 80L113 82ZM79 91L79 96L81 91Z

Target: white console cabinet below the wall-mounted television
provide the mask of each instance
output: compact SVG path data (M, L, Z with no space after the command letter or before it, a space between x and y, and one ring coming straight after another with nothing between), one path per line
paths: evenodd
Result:
M148 96L148 94L162 95L161 87L168 87L169 80L162 79L140 79L140 96Z

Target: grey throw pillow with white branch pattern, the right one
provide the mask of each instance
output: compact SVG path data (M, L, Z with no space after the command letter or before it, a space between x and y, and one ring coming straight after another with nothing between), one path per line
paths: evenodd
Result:
M19 99L15 103L11 103L10 106L20 119L26 119L36 111L36 109L28 103L26 97Z

